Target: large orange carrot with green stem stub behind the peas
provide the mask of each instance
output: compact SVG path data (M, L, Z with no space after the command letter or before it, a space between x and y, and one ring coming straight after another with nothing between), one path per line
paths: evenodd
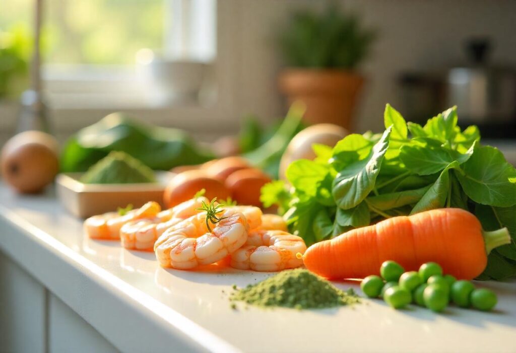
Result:
M434 261L445 274L473 279L486 268L490 251L510 241L507 228L482 231L470 212L446 208L350 230L310 246L303 261L308 270L329 279L379 275L386 260L398 262L406 271Z

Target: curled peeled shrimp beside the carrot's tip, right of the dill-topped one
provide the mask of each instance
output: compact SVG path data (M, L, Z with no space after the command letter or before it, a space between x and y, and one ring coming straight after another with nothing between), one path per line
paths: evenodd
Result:
M249 232L246 245L231 255L231 267L240 270L281 271L303 264L297 253L307 250L302 238L282 230Z

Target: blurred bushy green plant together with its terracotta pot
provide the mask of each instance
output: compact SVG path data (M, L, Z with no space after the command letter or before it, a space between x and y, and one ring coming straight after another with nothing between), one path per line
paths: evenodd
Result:
M349 129L353 108L364 78L357 66L376 37L363 28L358 16L342 13L336 5L318 14L301 10L280 35L286 68L279 87L291 104L307 105L309 124L332 123Z

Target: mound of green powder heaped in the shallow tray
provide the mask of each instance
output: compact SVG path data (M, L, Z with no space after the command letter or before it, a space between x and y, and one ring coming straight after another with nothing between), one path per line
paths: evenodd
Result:
M154 172L145 164L124 152L111 152L96 162L80 178L88 184L123 184L155 182Z

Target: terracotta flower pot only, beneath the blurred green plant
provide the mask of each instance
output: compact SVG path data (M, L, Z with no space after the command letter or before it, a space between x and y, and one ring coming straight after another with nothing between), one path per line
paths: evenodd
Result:
M352 114L364 78L341 70L286 69L280 73L280 90L288 103L301 100L309 124L331 123L351 129Z

